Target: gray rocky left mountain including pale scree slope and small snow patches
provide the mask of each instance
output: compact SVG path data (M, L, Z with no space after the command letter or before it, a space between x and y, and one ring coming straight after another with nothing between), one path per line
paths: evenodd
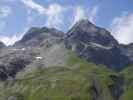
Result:
M19 71L64 64L64 33L56 29L31 28L22 40L0 53L0 80L12 79ZM46 66L45 66L46 65Z

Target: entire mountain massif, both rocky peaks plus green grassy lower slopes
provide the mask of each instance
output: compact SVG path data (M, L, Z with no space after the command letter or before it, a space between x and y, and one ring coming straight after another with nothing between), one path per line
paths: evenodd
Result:
M0 49L0 100L132 100L132 50L88 20L33 27Z

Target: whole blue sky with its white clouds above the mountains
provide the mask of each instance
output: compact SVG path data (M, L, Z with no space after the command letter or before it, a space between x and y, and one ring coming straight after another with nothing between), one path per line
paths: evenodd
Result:
M0 40L7 45L33 26L64 32L80 19L111 31L120 42L133 42L133 0L0 0Z

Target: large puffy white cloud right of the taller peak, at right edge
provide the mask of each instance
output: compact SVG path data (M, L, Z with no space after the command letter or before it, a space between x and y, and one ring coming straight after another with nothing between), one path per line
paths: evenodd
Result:
M133 13L123 12L121 16L113 19L111 24L113 36L124 44L133 42Z

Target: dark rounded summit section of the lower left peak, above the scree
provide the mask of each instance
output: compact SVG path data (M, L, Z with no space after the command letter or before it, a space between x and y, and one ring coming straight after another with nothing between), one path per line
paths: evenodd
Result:
M54 37L61 38L64 36L64 33L58 31L54 28L37 28L32 27L26 35L22 38L22 40L15 43L15 46L37 46L40 45L44 40Z

